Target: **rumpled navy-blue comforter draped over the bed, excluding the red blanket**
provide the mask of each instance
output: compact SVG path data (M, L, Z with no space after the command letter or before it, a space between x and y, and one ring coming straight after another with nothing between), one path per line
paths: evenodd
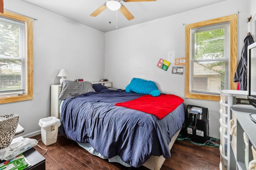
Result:
M140 96L143 94L105 89L68 98L61 108L60 134L78 143L90 143L108 158L119 155L134 167L141 166L150 155L170 158L168 144L182 127L184 106L163 119L115 106Z

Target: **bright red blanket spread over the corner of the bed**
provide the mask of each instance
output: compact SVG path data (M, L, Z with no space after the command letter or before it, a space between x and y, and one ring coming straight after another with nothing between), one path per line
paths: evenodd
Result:
M182 98L173 94L160 94L158 97L153 97L151 95L141 96L134 100L117 103L116 106L144 111L162 119L182 104L182 102L184 102Z

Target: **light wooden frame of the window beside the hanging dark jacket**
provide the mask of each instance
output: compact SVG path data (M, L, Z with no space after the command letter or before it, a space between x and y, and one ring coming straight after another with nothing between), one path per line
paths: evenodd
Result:
M185 98L220 101L220 95L209 94L193 94L190 92L190 30L197 27L209 26L218 23L230 22L230 74L229 74L229 88L236 89L236 83L233 81L236 72L237 61L237 15L230 15L212 20L192 23L185 26Z

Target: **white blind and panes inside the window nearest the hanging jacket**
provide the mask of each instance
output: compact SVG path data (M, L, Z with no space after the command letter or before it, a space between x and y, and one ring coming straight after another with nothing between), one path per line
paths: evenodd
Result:
M220 94L229 88L230 23L190 31L190 92Z

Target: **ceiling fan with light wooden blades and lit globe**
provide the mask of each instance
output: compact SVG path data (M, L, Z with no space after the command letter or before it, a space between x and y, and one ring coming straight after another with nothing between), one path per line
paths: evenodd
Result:
M122 1L123 2L148 2L148 1L156 1L156 0L122 0ZM132 14L127 10L127 8L125 8L121 0L106 0L105 4L103 4L102 6L100 6L100 8L95 10L90 16L96 17L106 8L113 11L119 10L127 18L127 20L134 19L134 16L132 16Z

